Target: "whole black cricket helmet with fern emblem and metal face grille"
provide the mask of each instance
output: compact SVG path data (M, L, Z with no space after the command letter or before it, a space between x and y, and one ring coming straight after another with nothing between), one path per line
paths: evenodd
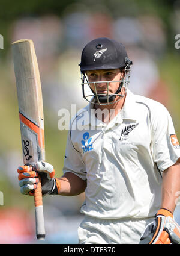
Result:
M81 71L81 80L82 80L82 91L83 98L87 101L92 102L93 104L98 105L108 105L110 102L114 102L116 96L121 99L125 96L127 85L129 83L130 77L130 66L132 61L129 60L127 56L127 52L125 51L124 45L122 43L118 43L113 39L109 39L107 37L100 37L89 42L85 48L83 48L81 61L80 61L80 71ZM118 90L109 94L109 90L107 94L97 94L91 89L91 86L86 77L86 71L88 70L98 70L98 69L121 69L124 68L124 79L119 81ZM86 81L85 81L86 80ZM96 86L97 82L94 82L94 86ZM106 82L108 85L110 81ZM85 85L88 85L91 89L95 101L93 101L93 95L85 95ZM121 88L124 85L125 93L122 95ZM88 98L92 97L91 100ZM116 101L119 101L116 100Z

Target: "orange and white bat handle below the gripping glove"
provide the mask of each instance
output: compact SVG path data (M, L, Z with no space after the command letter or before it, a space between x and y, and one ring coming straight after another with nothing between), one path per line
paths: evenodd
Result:
M45 228L44 228L43 198L42 198L40 175L38 176L38 178L39 178L39 183L37 184L37 189L35 189L34 191L36 236L38 240L44 240Z

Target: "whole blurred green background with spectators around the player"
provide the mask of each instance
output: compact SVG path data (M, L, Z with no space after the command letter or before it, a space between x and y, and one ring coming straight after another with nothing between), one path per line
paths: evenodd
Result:
M67 108L71 113L71 104L76 104L77 110L87 104L82 99L78 64L83 46L95 37L124 43L134 64L130 89L166 105L180 137L180 49L175 48L180 1L0 0L0 7L0 34L4 37L4 49L0 49L0 190L4 195L0 243L36 243L33 198L20 194L16 173L22 164L22 148L11 43L22 38L34 41L43 90L46 161L53 164L56 176L61 176L67 131L58 129L58 110ZM46 196L43 200L49 234L46 242L76 243L83 195L65 199ZM11 215L26 216L23 228ZM62 220L67 226L72 223L65 236Z

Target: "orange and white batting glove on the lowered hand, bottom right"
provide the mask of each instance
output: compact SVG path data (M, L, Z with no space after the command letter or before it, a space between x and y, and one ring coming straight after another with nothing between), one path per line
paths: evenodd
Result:
M164 208L161 208L154 221L146 226L140 240L145 239L149 234L152 234L149 244L180 243L180 226L173 220L173 214Z

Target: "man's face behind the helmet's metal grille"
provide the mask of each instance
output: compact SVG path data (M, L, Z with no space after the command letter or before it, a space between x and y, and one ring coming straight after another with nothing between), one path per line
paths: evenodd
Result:
M86 72L88 81L93 92L97 94L107 94L107 86L109 87L109 94L115 93L119 88L119 80L124 77L124 72L120 69L100 69L100 70L89 70ZM103 83L92 83L92 82L103 82ZM109 83L107 83L109 81ZM96 86L96 89L95 89Z

